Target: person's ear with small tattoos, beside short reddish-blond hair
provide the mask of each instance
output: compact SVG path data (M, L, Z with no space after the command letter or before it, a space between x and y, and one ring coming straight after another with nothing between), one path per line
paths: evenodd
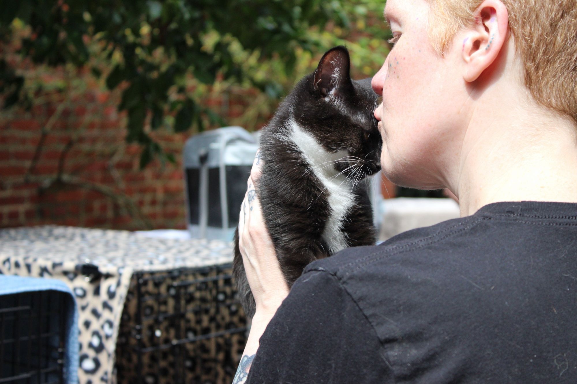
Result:
M475 81L494 62L507 38L509 14L500 0L485 0L474 16L463 40L463 79L467 82Z

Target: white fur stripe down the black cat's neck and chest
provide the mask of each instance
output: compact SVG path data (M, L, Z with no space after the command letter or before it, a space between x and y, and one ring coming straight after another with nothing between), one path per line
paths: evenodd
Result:
M343 219L353 207L355 196L344 175L338 174L332 164L346 157L348 153L346 151L330 153L296 121L290 120L289 124L290 140L297 145L312 168L314 176L323 184L324 191L328 192L331 215L325 224L322 236L331 253L338 252L347 247L346 235L342 231Z

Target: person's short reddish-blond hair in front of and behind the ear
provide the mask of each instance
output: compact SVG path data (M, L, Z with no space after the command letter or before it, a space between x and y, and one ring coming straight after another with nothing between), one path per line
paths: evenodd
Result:
M429 37L443 54L474 22L482 0L429 0ZM509 13L524 85L535 101L577 123L577 0L501 0Z

